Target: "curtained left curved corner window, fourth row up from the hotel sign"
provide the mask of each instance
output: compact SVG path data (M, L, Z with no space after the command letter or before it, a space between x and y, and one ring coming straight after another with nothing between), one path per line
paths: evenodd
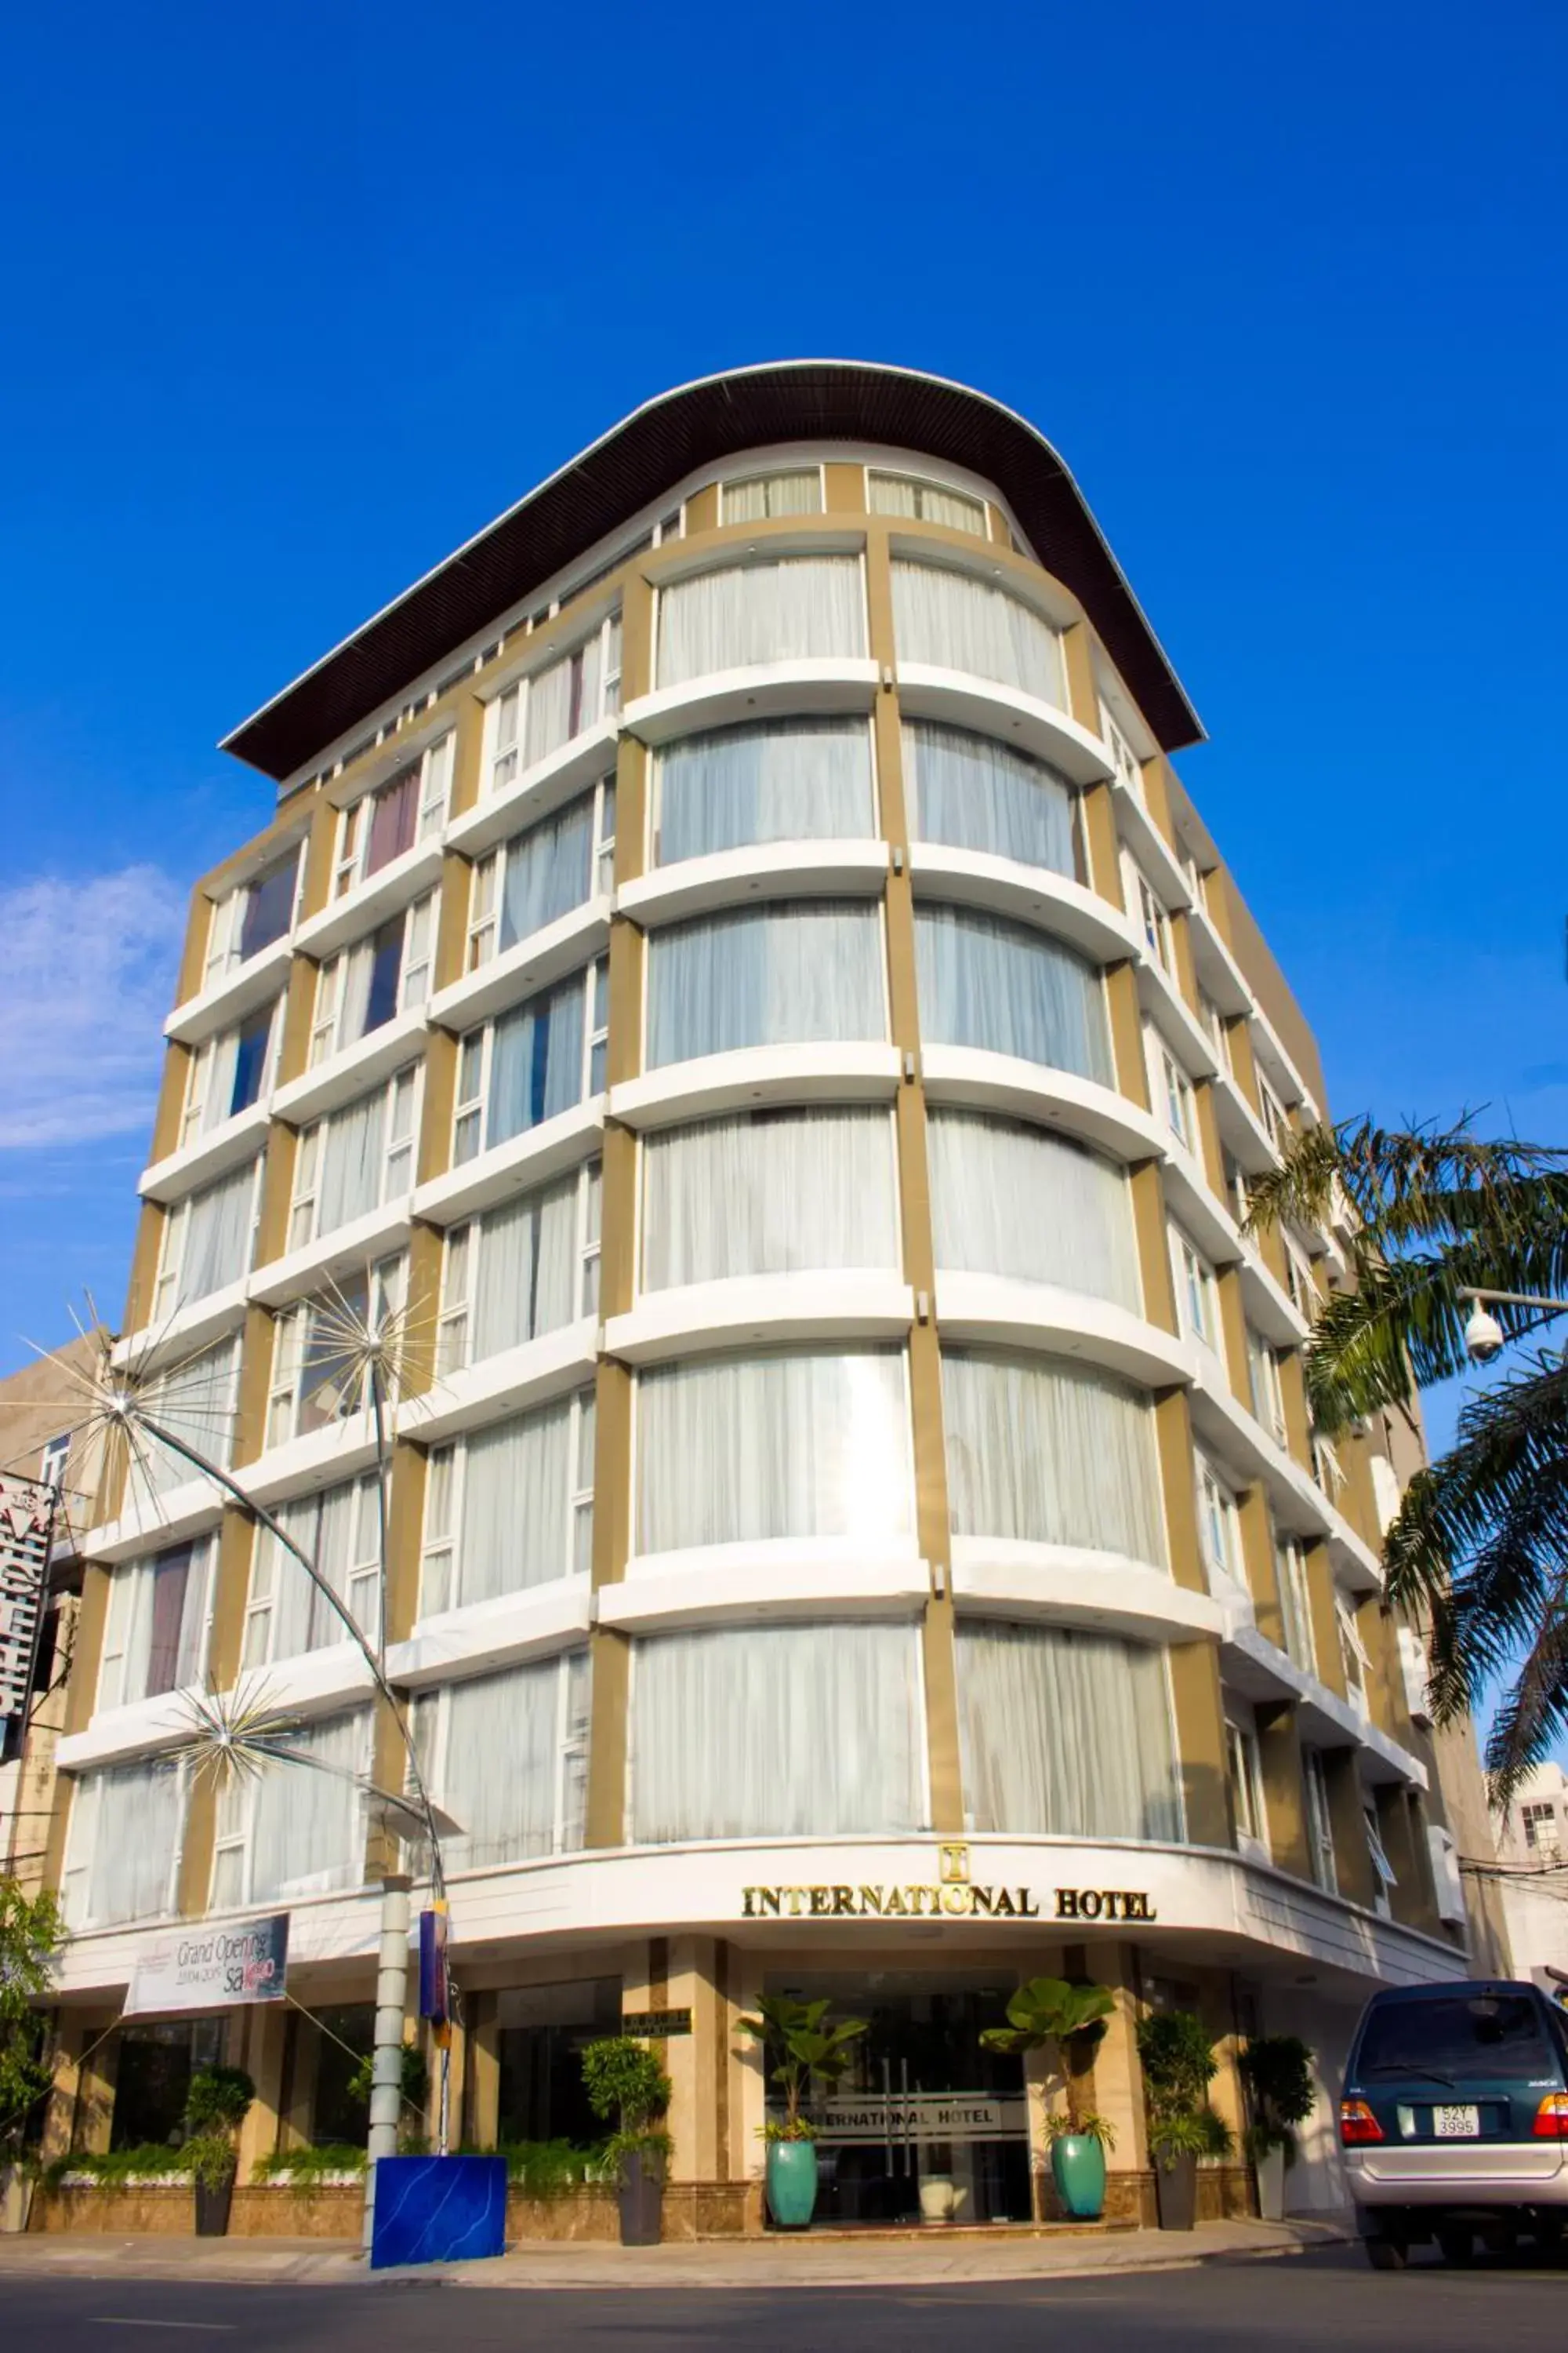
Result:
M886 1038L879 908L790 899L649 941L649 1068L806 1038Z

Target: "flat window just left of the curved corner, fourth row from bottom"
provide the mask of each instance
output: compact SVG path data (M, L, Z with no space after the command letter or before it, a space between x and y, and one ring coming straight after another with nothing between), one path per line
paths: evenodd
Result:
M609 972L574 972L458 1045L451 1160L494 1151L604 1087Z

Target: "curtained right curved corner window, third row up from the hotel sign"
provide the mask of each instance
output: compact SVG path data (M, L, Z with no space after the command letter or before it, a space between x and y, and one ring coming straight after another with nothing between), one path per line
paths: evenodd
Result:
M933 1111L926 1151L938 1266L1138 1311L1133 1200L1114 1160L978 1111Z

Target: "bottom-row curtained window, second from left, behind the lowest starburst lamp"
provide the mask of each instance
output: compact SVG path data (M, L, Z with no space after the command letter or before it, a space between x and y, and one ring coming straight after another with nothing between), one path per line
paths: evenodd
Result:
M212 1911L329 1894L364 1880L364 1774L371 1713L329 1715L289 1734L282 1765L219 1795Z

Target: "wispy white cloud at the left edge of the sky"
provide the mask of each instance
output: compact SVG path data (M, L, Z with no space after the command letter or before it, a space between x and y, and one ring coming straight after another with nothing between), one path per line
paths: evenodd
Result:
M0 1146L150 1125L183 927L158 866L0 889Z

